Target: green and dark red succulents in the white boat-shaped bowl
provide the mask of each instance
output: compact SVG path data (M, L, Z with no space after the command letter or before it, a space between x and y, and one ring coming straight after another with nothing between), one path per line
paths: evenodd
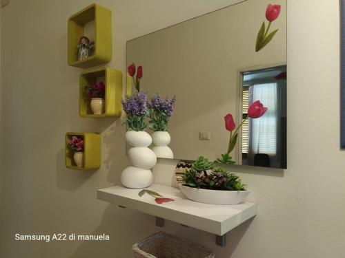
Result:
M207 173L207 170L211 170ZM184 185L193 188L225 190L225 191L246 191L246 185L242 184L240 178L220 167L214 167L204 157L199 157L189 171L183 177Z

